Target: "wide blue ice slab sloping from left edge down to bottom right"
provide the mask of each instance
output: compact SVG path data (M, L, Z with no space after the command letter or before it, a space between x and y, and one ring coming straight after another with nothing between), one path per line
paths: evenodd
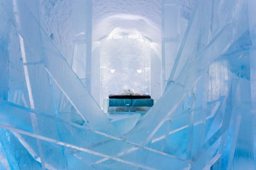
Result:
M119 138L113 138L76 124L62 122L54 117L33 113L33 110L19 109L3 102L0 107L2 115L0 127L2 128L146 169L159 168L159 166L160 168L174 166L178 169L189 167L189 162L185 160L149 148L140 148ZM31 115L36 116L42 122L47 122L49 126L43 123L38 124L40 130L33 131ZM60 127L61 139L55 131L56 122ZM118 147L113 148L113 146Z

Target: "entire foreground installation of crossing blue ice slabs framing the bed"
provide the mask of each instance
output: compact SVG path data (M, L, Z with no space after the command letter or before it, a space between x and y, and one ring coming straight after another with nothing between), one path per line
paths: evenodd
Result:
M40 10L61 3L0 0L0 169L256 169L254 0L161 1L164 92L145 115L100 109L90 72L100 3L72 2L86 10L86 23L70 22L85 27L72 34L79 67L43 26Z

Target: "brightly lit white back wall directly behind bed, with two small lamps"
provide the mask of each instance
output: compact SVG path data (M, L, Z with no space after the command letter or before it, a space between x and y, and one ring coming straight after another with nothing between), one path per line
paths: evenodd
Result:
M111 41L115 43L111 44ZM113 93L123 93L124 89L134 89L136 93L142 94L151 93L150 42L141 35L139 37L138 30L114 29L107 41L101 41L100 52L102 98L107 99Z

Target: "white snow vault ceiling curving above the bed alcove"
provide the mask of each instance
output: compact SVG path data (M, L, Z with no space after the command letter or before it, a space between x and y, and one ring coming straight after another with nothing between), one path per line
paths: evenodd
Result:
M93 0L92 11L94 42L107 37L117 27L137 29L159 51L161 0Z

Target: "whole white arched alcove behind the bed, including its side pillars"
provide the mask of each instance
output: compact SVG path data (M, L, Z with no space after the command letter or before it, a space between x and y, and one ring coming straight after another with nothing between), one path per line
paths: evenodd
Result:
M161 67L153 67L152 71L150 68L151 62L161 66L161 60L151 48L150 40L142 35L144 32L135 28L117 27L101 38L93 50L93 63L100 65L92 65L92 83L100 83L100 89L92 88L92 94L95 99L100 98L101 107L109 94L123 93L123 89L152 94L155 99L160 97L161 83L158 86L157 83L161 80Z

